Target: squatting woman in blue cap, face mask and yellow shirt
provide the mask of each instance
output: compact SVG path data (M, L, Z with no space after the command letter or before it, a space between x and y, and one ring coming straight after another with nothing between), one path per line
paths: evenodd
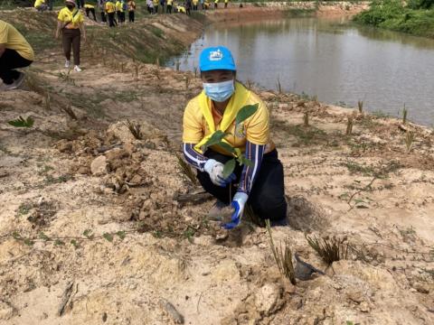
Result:
M240 224L246 203L259 218L285 225L283 166L270 139L269 110L257 95L236 81L236 67L229 49L223 46L203 49L199 69L203 91L184 110L185 161L197 170L203 189L219 200L216 208L231 203L231 222L224 224L224 228ZM246 105L258 108L237 124L235 117ZM220 145L204 148L217 130L228 133L224 137L226 143L250 161L243 165L237 162L234 172L227 177L223 176L223 164L233 155Z

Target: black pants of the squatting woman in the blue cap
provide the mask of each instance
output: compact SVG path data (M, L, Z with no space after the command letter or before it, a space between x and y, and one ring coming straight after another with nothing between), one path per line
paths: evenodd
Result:
M208 158L215 159L217 162L226 163L231 157L222 153L208 150L205 153ZM240 181L242 166L237 163L235 175ZM207 172L197 172L197 179L200 181L203 190L212 194L218 200L229 204L231 196L236 192L236 187L230 185L225 188L214 185ZM278 160L276 150L264 154L260 166L259 175L250 190L249 200L247 201L253 212L262 219L280 220L287 217L287 201L285 200L285 185L283 181L283 166Z

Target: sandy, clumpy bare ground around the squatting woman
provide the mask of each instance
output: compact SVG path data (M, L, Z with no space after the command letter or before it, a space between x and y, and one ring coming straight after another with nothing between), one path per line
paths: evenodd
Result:
M192 42L197 22L176 19L165 41ZM291 227L274 241L325 271L293 285L265 228L226 232L213 200L180 200L197 190L175 153L200 80L92 50L80 74L46 55L0 94L1 324L434 323L431 130L253 87L285 168ZM346 254L327 266L305 232Z

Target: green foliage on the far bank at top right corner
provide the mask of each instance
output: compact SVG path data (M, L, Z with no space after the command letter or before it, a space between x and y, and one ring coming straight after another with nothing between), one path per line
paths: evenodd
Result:
M410 0L407 6L401 0L373 1L370 8L354 16L354 22L373 25L397 32L434 37L433 0Z

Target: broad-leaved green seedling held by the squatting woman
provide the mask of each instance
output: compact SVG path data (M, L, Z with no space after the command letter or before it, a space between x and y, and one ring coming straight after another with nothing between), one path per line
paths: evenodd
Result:
M241 107L240 111L238 112L237 116L235 117L235 125L241 125L242 122L244 122L246 119L248 119L250 116L256 113L256 111L259 108L259 104L255 105L247 105L245 107ZM238 148L234 148L229 144L228 142L224 141L224 137L227 135L231 135L230 133L222 132L222 130L215 131L210 139L203 145L204 149L208 148L212 145L218 145L222 147L225 151L232 154L233 158L229 160L227 163L224 164L223 168L223 177L228 178L231 173L234 171L236 163L240 163L240 165L247 165L252 166L252 163L249 159L247 159L242 153L241 150Z

